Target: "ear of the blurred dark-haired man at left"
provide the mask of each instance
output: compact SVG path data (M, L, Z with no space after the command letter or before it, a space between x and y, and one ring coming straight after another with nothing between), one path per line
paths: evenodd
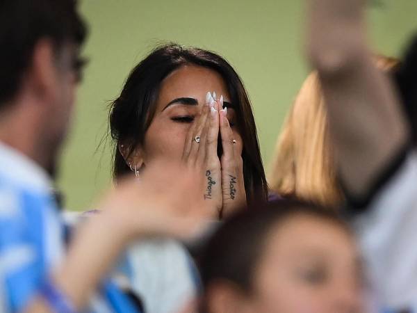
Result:
M42 99L54 99L57 93L57 61L51 40L42 39L33 49L29 79L36 95Z

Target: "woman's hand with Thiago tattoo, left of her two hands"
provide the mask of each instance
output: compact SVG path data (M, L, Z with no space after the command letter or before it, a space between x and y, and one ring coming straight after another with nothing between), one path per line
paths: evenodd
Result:
M215 103L207 93L202 113L188 131L183 152L183 164L188 172L195 173L197 196L204 200L202 209L210 218L217 217L222 211L221 171L217 155L219 114Z

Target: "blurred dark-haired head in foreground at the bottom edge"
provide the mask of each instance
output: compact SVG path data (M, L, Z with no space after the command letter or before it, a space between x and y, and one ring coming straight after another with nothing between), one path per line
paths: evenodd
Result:
M329 209L270 202L227 220L201 262L204 313L363 312L361 258Z

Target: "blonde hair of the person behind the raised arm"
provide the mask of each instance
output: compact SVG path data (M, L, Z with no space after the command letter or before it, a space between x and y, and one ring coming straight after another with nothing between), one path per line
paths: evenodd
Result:
M399 62L375 56L375 65L390 72ZM275 147L269 183L278 195L326 207L335 207L343 200L317 72L306 78L286 117Z

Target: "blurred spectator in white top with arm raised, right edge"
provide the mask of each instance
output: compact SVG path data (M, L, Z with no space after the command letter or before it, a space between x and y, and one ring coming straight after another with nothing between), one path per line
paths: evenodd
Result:
M309 1L309 60L322 83L338 177L382 312L417 307L415 43L396 82L376 70L361 0ZM343 40L340 40L343 38ZM407 113L410 123L404 118Z

